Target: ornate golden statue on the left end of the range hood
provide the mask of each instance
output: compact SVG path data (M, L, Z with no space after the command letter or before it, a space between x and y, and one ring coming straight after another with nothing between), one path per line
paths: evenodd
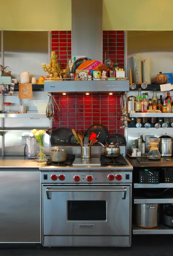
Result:
M62 70L56 59L55 52L51 53L50 64L46 66L46 64L42 64L42 68L45 72L48 72L51 78L59 78Z

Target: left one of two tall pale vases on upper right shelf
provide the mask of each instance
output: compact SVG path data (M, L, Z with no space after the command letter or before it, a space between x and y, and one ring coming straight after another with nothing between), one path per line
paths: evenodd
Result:
M135 84L142 84L141 54L133 54L133 80Z

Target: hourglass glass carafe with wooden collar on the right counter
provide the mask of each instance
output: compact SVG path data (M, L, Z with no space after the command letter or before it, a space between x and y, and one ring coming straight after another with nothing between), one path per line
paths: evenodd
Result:
M158 151L158 138L148 138L150 143L150 151L148 153L148 159L150 160L159 160L161 158L160 152Z

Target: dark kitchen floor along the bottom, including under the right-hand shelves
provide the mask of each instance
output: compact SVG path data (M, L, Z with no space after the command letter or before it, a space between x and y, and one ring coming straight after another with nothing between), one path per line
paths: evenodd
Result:
M172 235L133 236L131 248L25 247L0 248L0 256L173 256Z

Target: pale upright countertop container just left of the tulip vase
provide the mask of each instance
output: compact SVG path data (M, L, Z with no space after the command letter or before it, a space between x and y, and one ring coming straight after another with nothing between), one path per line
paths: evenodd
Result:
M36 158L38 155L38 147L36 146L37 140L35 137L29 136L26 139L27 145L27 158Z

